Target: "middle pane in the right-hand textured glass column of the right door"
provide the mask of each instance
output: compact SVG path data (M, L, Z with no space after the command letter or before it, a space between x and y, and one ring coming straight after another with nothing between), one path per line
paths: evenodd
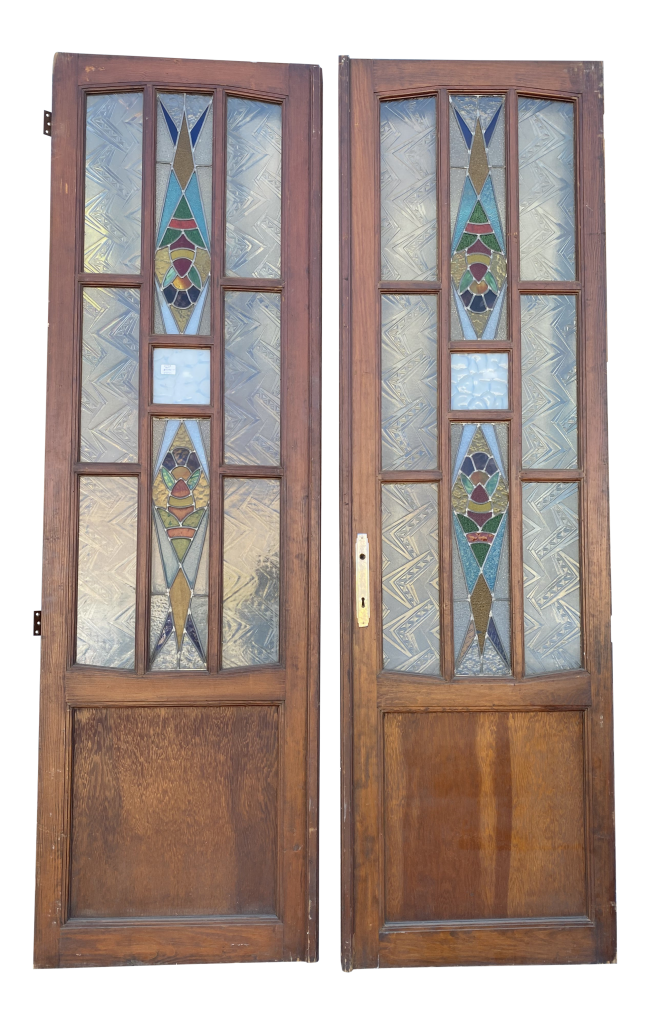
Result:
M526 469L577 466L575 296L521 296L522 460Z

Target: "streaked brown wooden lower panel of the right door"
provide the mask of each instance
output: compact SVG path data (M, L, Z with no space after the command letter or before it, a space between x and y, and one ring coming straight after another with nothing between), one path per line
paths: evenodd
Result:
M388 714L387 921L587 912L581 712Z

